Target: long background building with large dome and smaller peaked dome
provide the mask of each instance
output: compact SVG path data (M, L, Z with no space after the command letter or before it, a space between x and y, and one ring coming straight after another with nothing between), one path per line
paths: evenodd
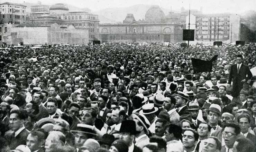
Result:
M145 20L136 21L133 14L127 14L123 23L100 24L102 42L180 42L181 24L167 20L159 6L152 6L146 12Z

